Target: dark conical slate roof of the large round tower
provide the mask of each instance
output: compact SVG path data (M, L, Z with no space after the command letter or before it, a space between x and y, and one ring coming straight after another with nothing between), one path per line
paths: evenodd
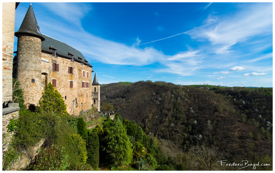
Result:
M41 38L41 41L44 41L45 38L43 38L37 27L38 25L33 12L33 7L30 5L19 30L15 32L14 35L16 37L18 37L20 34L34 35Z

